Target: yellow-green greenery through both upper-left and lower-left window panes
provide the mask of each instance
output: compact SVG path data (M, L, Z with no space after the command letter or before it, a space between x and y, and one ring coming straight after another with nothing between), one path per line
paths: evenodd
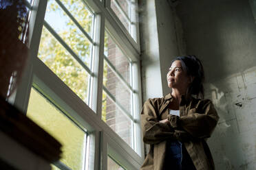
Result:
M85 7L83 0L61 0L65 8L70 11L76 21L92 37L93 14ZM74 22L63 12L54 0L48 0L47 13L61 15L63 27L50 23L55 32L69 45L89 68L91 62L92 44L81 32ZM46 18L46 17L45 17ZM57 22L56 22L57 23ZM54 36L43 27L38 57L69 86L78 97L87 102L89 73L79 64L73 56L61 45ZM41 106L43 104L43 106ZM58 112L58 114L57 114ZM62 118L61 112L45 102L40 95L32 90L28 116L39 123L47 132L63 143L63 159L61 161L72 167L82 169L84 134L67 117ZM72 132L70 132L71 130ZM57 169L53 167L53 169Z

